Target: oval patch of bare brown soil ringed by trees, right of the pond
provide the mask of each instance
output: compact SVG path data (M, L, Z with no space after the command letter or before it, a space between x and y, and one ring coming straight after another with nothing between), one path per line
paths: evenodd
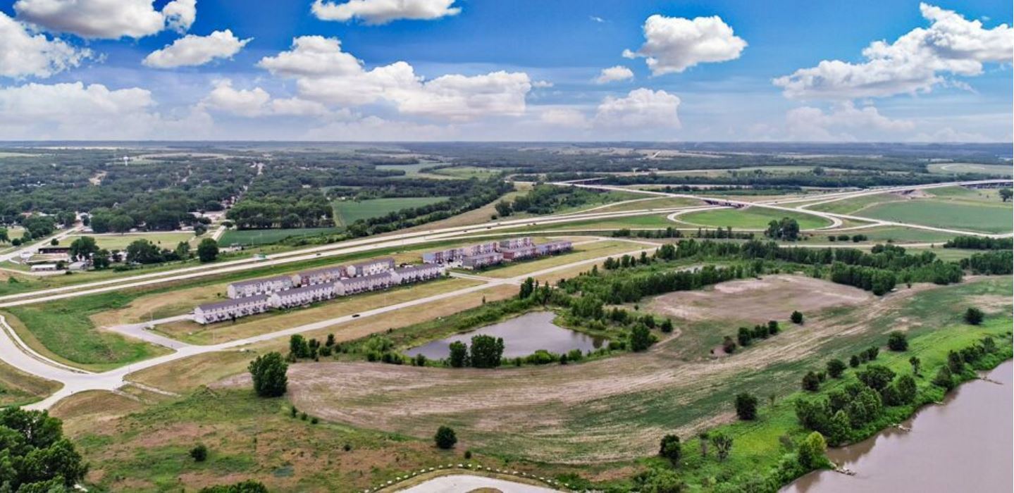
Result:
M805 276L775 275L724 282L702 291L677 291L655 297L648 309L687 321L715 319L759 324L789 313L819 311L869 302L862 289Z

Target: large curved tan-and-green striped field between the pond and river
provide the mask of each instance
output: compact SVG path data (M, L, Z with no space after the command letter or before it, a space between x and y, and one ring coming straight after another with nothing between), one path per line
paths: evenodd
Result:
M772 289L779 286L746 291L737 302L772 302L778 297ZM854 291L848 305L807 311L802 327L785 320L792 309L805 309L799 300L775 300L784 314L783 333L720 360L712 359L708 349L734 334L735 325L677 320L677 332L647 353L578 365L489 371L298 364L289 370L290 399L330 421L420 438L439 424L451 424L480 451L565 464L617 462L651 454L664 432L693 436L703 426L730 421L729 403L738 392L784 400L796 392L807 368L821 366L829 357L847 358L871 343L881 345L889 331L907 330L913 346L920 347L920 337L966 342L983 331L1010 329L1009 277L951 287L916 285L866 302L861 301L866 293ZM991 325L982 331L962 326L954 306L969 303L992 313ZM909 356L888 361L908 364ZM226 384L246 388L247 378L238 375ZM404 385L406 381L413 384ZM378 395L378 388L386 392ZM798 427L792 420L786 426ZM778 443L771 441L769 446Z

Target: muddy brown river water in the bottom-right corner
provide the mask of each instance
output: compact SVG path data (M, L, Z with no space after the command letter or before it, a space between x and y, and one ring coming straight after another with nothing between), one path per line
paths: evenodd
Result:
M992 493L1014 491L1014 363L952 392L902 423L912 431L884 430L863 442L827 450L855 471L808 474L782 493Z

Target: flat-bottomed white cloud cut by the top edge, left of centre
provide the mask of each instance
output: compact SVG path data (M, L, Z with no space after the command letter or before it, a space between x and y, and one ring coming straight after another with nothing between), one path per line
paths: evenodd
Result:
M431 20L457 15L454 0L349 0L335 3L314 0L310 10L321 20L361 19L367 24L385 24L397 19Z

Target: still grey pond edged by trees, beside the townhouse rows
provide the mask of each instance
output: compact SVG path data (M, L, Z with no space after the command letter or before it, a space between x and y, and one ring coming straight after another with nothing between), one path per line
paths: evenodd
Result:
M479 335L503 338L505 358L527 356L539 349L553 353L566 353L572 349L587 352L598 349L604 343L601 338L556 326L553 324L554 318L556 313L552 311L525 313L500 324L412 348L406 351L406 354L409 356L423 354L430 359L446 358L450 354L447 347L450 343L463 342L470 345L473 336Z

